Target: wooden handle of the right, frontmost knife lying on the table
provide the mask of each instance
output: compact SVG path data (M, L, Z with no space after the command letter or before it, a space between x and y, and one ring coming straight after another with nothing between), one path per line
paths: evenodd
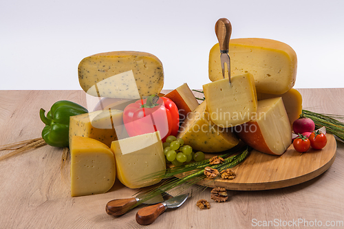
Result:
M140 225L149 225L155 221L166 210L164 204L159 203L144 207L136 213L136 221Z

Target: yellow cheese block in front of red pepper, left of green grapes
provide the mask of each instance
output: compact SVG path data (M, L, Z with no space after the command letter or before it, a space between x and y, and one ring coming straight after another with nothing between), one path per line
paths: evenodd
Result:
M128 188L141 188L160 182L145 179L166 169L164 149L159 131L112 142L116 157L117 177Z

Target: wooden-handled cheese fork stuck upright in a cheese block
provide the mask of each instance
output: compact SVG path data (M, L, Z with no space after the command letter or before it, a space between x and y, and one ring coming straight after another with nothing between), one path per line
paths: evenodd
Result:
M217 40L219 41L219 51L221 53L221 67L222 67L222 76L226 78L225 64L228 69L228 80L230 83L230 57L228 55L229 51L229 39L232 34L232 25L228 19L219 19L215 24L215 34Z

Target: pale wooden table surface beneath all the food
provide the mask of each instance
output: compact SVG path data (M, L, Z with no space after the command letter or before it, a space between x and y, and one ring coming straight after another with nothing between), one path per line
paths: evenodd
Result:
M344 114L344 89L299 91L304 109ZM49 110L57 100L87 103L84 91L0 91L0 145L39 138L44 127L39 109ZM108 193L70 197L69 165L61 167L62 150L42 146L0 162L0 228L215 229L264 223L270 225L264 228L344 228L344 144L337 145L332 166L309 182L276 190L229 190L225 203L210 199L211 188L197 192L192 186L188 191L193 190L193 197L149 226L136 223L138 209L121 217L107 215L107 201L136 193L118 180ZM199 199L208 199L211 209L197 208Z

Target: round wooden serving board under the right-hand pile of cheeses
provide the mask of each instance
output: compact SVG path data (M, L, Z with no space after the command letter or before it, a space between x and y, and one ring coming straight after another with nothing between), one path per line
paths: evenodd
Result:
M235 179L204 179L202 186L224 187L228 190L268 190L307 182L330 168L336 157L336 140L326 134L327 144L322 150L307 153L294 150L292 144L281 156L251 151L244 162L233 168ZM209 153L210 154L210 153Z

